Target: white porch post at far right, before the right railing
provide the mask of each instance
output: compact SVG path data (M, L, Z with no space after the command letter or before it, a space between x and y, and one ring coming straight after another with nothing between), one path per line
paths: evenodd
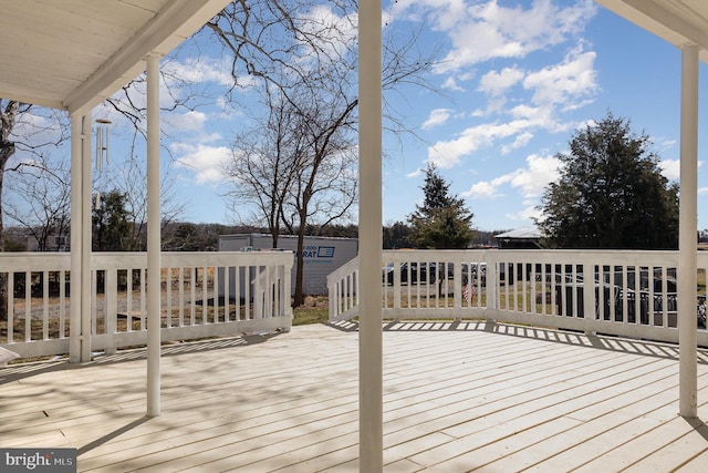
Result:
M681 48L680 208L678 235L679 413L698 415L696 285L698 230L698 47Z

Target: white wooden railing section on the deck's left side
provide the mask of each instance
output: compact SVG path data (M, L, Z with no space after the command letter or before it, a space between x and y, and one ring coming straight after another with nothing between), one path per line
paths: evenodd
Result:
M163 341L290 330L292 254L163 253ZM147 342L145 253L94 253L91 349L113 352ZM69 352L69 254L2 254L7 321L0 346L22 357Z

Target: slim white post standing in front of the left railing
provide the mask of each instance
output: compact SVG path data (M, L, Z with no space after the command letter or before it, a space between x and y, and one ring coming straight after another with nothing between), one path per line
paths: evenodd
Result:
M159 56L147 63L147 415L159 405L160 209L159 209Z

